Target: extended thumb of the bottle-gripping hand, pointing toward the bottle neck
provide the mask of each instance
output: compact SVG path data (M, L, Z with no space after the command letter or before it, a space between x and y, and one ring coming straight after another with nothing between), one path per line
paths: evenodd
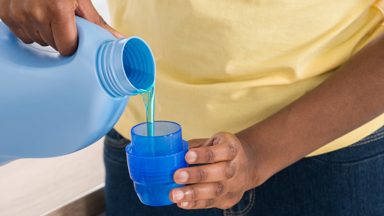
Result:
M110 27L104 19L98 14L95 6L92 4L91 0L79 0L79 5L75 11L75 14L83 19L86 19L96 25L104 28L110 32L116 38L126 37L120 32L116 31Z

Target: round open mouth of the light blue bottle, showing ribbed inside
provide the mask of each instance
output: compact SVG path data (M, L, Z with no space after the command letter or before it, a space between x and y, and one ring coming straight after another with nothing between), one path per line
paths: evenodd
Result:
M123 50L124 72L133 87L140 92L150 90L155 82L155 60L148 44L141 38L131 37Z

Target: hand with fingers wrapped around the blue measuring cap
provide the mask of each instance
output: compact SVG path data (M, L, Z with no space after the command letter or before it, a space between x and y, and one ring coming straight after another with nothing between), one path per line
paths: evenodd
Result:
M170 200L183 209L227 209L239 202L247 188L248 160L236 136L220 132L189 144L186 161L205 165L177 170L174 181L192 185L172 189Z

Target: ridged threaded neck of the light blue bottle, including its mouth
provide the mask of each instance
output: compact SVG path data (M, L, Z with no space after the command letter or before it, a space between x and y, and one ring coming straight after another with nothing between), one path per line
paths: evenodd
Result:
M137 95L155 84L155 58L140 37L119 38L101 45L97 70L105 90L114 97Z

